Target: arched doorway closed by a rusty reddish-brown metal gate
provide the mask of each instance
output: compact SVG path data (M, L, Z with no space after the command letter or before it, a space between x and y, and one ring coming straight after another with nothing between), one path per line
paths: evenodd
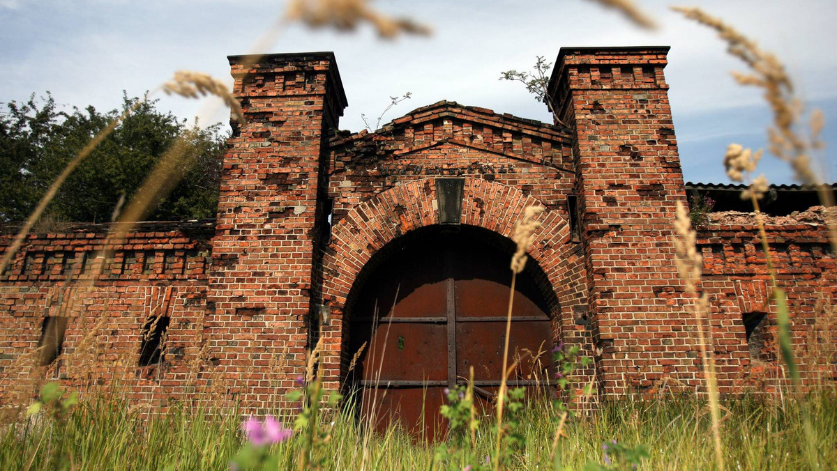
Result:
M362 420L397 421L415 435L443 429L444 389L468 381L483 406L501 382L511 286L507 238L472 226L430 226L380 250L358 276L347 303L347 360L364 346L348 374ZM520 365L510 384L552 384L551 289L529 262L518 275L510 356ZM546 293L546 294L545 294ZM553 295L554 296L554 295Z

